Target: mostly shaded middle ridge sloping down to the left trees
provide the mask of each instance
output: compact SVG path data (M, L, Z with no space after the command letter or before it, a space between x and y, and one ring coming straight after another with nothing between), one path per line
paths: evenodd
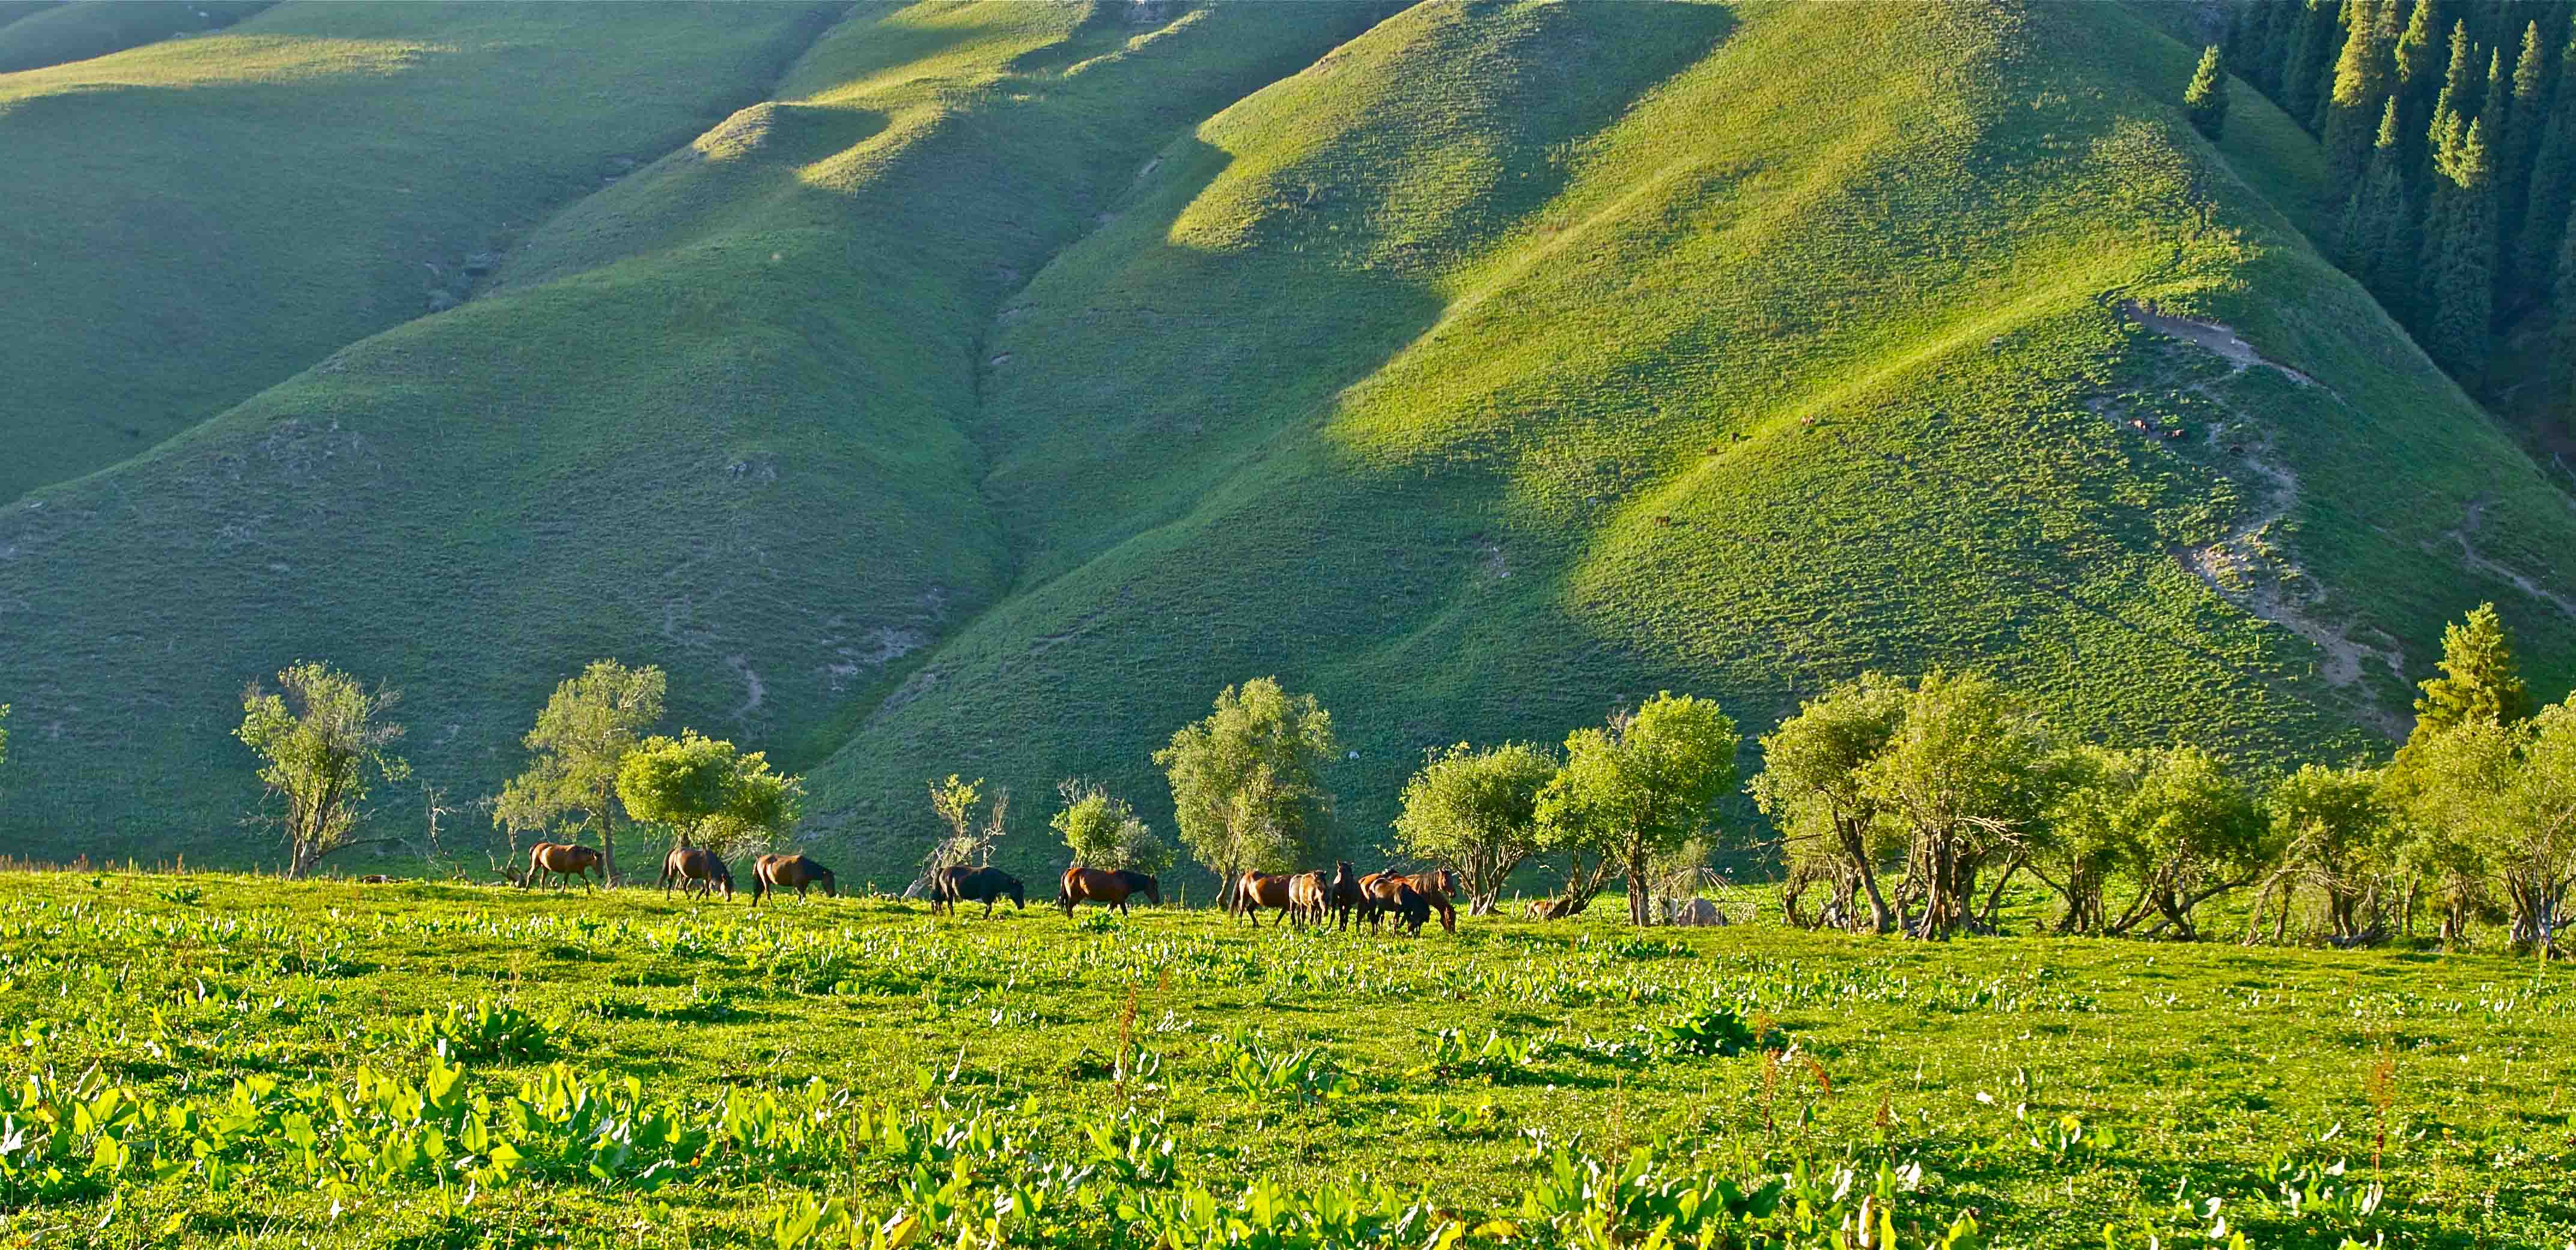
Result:
M829 724L1010 580L963 436L1002 296L1149 152L1373 10L1136 15L855 10L479 299L0 513L31 642L0 688L39 778L10 820L157 851L124 812L170 804L193 832L167 848L240 848L224 729L299 655L402 686L410 755L459 796L595 655L667 665L711 732Z

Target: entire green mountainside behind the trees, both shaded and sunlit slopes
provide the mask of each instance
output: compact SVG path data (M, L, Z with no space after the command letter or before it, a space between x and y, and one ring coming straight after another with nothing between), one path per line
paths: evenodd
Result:
M1762 732L1984 665L2105 740L2342 755L2483 598L2576 683L2568 495L2318 258L2313 142L2244 90L2205 144L2125 8L556 13L0 75L64 206L62 273L0 276L0 840L250 858L224 732L296 657L399 686L451 802L585 660L667 665L853 879L951 771L1030 871L1059 776L1164 822L1146 755L1265 673L1334 711L1350 848L1425 747L1656 688ZM160 173L314 111L294 183ZM77 209L155 178L219 278ZM134 351L224 291L255 351Z

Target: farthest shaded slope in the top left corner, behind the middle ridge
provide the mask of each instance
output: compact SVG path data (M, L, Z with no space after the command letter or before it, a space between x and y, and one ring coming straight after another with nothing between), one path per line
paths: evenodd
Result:
M191 13L70 5L0 26L0 57L129 8ZM0 265L0 441L18 448L0 500L453 304L477 255L762 98L832 10L281 5L0 75L0 253L21 258Z

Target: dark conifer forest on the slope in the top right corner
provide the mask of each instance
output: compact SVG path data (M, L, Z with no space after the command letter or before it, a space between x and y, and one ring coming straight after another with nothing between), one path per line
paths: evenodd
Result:
M2576 394L2571 49L2561 3L2257 0L2226 34L2226 64L2326 149L2342 204L2316 242L2550 446Z

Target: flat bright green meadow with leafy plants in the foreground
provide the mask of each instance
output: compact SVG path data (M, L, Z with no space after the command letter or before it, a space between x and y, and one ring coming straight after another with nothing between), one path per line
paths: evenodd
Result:
M10 874L0 1245L2561 1245L2571 1034L2483 956Z

